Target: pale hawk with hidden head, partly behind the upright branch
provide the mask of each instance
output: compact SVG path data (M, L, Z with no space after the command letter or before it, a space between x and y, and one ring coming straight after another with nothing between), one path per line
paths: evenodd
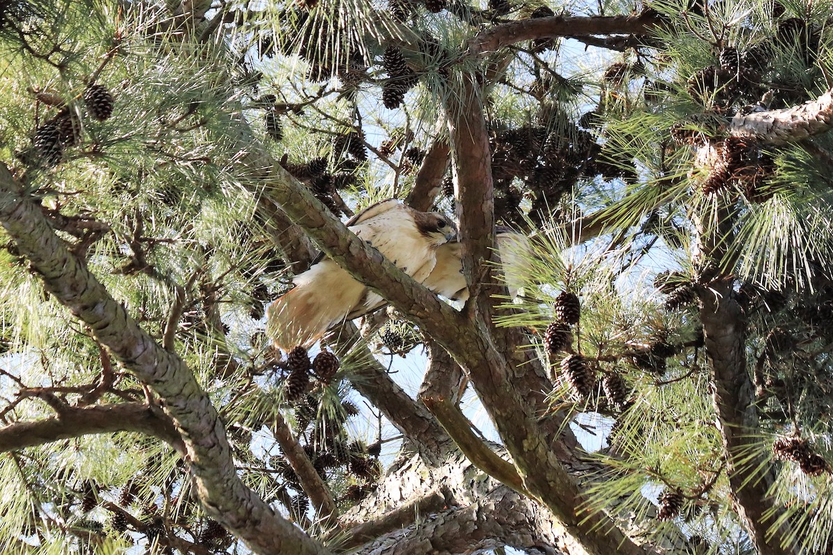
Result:
M531 256L529 240L526 235L503 225L496 227L496 233L502 278L509 289L509 296L514 297L520 288L519 280L527 271L527 260ZM441 245L436 250L434 269L422 285L446 299L467 300L469 292L463 275L461 250L462 245L456 241Z

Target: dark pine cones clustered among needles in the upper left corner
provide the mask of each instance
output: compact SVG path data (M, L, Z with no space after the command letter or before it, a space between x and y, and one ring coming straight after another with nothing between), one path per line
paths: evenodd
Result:
M103 85L89 85L83 97L92 119L104 121L112 116L113 97ZM62 106L35 130L32 147L38 161L43 166L57 166L63 160L64 149L81 141L81 131L81 121L72 107Z

